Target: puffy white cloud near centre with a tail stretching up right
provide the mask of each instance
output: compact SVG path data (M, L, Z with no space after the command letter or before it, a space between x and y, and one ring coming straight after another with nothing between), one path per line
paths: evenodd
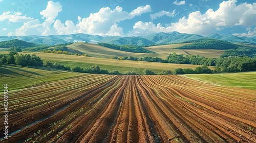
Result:
M110 31L117 26L118 22L126 19L132 19L135 16L139 16L142 13L147 13L150 11L150 5L138 7L131 13L123 11L119 6L117 6L114 10L111 10L109 7L101 8L99 12L91 13L87 18L81 18L78 16L79 22L77 23L76 27L78 28L78 33L109 35L113 34ZM117 29L120 32L120 28Z

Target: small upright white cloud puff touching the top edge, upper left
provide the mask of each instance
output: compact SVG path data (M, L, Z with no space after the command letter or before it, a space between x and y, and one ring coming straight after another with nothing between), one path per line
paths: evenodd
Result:
M45 10L40 12L42 18L53 18L55 19L58 16L58 13L62 11L62 6L59 2L54 3L49 1Z

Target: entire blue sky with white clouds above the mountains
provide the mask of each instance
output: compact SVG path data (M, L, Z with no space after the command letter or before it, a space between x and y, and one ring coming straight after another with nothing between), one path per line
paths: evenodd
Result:
M0 36L256 36L254 0L0 0Z

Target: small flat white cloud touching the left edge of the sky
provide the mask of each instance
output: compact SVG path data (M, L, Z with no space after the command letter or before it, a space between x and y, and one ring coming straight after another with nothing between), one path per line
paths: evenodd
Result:
M7 12L4 12L2 15L0 15L0 21L8 20L11 22L25 22L33 19L31 17L27 17L26 15L25 16L21 16L21 15L22 13L20 12L13 13L13 12L7 11Z

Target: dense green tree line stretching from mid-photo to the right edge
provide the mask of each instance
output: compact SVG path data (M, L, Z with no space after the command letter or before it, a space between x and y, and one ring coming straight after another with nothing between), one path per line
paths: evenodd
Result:
M112 57L112 59L120 60L135 60L147 62L163 62L163 63L178 63L178 64L194 64L205 66L217 66L222 72L238 72L238 71L256 71L256 58L252 57L223 57L223 58L205 58L199 55L178 55L176 53L169 54L165 60L154 57L137 58L129 57Z

